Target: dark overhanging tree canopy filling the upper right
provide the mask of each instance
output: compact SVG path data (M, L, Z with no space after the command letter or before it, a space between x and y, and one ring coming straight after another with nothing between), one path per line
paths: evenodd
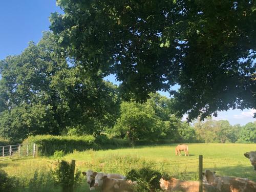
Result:
M164 89L190 120L256 108L255 2L58 0L50 28L92 76L116 74L123 98Z

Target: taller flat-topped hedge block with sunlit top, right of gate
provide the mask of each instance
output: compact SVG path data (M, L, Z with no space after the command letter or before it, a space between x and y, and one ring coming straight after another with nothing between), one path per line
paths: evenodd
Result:
M53 135L36 135L30 136L23 141L23 145L36 143L40 155L51 156L55 151L72 153L74 150L85 151L90 148L98 149L95 143L95 137L87 136L53 136Z

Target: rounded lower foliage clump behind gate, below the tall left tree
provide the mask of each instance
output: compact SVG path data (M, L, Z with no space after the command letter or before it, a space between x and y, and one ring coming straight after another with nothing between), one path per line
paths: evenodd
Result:
M21 141L29 135L52 134L56 121L51 105L23 104L0 115L0 135Z

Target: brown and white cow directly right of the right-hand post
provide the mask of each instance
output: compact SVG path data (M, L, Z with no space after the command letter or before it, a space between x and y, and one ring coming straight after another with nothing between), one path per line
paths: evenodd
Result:
M217 187L222 192L255 192L256 182L239 177L216 176L215 172L206 170L203 181Z

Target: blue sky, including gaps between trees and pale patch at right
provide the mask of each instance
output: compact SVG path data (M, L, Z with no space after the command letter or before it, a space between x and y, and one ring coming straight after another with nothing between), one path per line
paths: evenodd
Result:
M0 1L0 59L20 54L29 41L38 42L42 31L49 30L51 12L60 12L55 0L2 0ZM115 77L106 79L118 84ZM174 88L176 89L176 88ZM160 92L169 97L166 92ZM253 119L255 110L229 110L219 112L217 120L225 119L231 124L244 125Z

